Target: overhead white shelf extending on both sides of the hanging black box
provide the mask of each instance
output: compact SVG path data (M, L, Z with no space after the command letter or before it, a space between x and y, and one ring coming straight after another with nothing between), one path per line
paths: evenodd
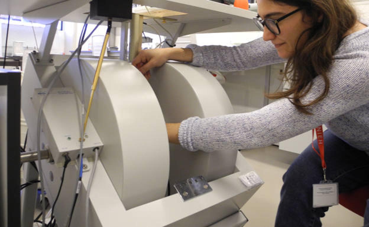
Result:
M256 16L255 12L215 1L134 0L133 3L187 13L170 17L176 21L164 24L169 32L174 32L180 23L185 23L186 26L181 35L195 32L257 31L252 21ZM48 24L59 18L63 21L83 22L86 18L85 13L89 12L89 0L4 0L0 7L0 14L25 16L24 12L28 12L27 18L32 18L41 24ZM94 21L90 22L94 23ZM152 22L148 23L154 25L155 22ZM121 23L113 23L113 26L120 27Z

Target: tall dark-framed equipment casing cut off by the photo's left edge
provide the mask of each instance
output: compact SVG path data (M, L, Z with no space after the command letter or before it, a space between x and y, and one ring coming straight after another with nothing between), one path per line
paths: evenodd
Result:
M0 69L0 226L21 226L21 71Z

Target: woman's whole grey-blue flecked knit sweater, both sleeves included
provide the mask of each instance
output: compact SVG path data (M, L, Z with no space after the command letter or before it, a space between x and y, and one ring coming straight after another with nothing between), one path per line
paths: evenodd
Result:
M248 70L283 61L272 43L262 39L238 47L188 47L194 53L192 64L211 70ZM349 145L369 153L369 27L342 40L329 78L328 95L307 108L313 115L300 113L284 98L250 113L191 117L180 124L180 144L191 151L249 149L268 146L325 124ZM318 76L301 101L308 103L323 90L324 81Z

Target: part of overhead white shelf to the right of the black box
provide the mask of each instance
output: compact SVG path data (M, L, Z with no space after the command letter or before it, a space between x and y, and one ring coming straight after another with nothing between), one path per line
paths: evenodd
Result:
M186 23L184 34L191 33L215 33L215 32L244 32L259 31L252 18L257 14L234 6L217 3L210 0L134 0L134 3L162 8L166 10L180 11L187 15L173 16L176 22L170 24ZM156 23L151 23L155 25ZM175 30L175 29L173 29ZM189 30L189 31L186 31Z

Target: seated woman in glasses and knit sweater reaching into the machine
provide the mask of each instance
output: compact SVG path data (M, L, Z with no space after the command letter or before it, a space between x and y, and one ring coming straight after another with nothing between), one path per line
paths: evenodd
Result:
M346 0L258 0L263 40L239 47L146 50L132 62L146 78L167 60L237 71L287 60L288 91L251 113L167 124L169 141L194 150L249 149L312 130L324 132L326 178L339 192L369 184L369 28ZM265 42L266 41L266 42ZM315 148L318 148L314 141ZM328 207L313 208L313 184L323 180L309 146L283 176L275 226L317 227Z

